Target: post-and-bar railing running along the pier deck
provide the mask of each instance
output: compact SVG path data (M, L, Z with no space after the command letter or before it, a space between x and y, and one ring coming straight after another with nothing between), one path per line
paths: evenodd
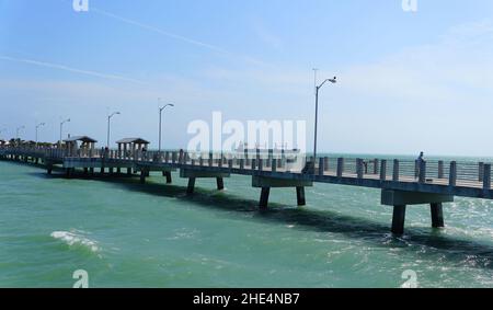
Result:
M62 161L101 159L133 161L141 164L215 167L278 173L303 173L313 176L353 177L381 182L412 182L491 190L491 163L428 160L389 160L376 158L306 157L297 151L186 152L118 151L105 149L51 149L35 147L0 147L0 156L31 157ZM314 162L314 164L313 164Z

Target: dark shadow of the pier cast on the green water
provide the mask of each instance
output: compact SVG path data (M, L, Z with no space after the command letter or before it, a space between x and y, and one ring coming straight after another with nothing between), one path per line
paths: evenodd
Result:
M31 172L30 174L43 179L65 179L64 175L47 175L43 172ZM380 249L398 248L403 251L416 251L413 245L428 246L438 251L447 251L447 260L454 261L455 263L462 263L465 261L471 263L472 255L472 261L475 261L473 264L475 267L493 268L493 246L491 244L444 236L440 230L436 229L410 227L403 238L397 238L389 233L389 226L387 225L364 218L341 215L331 210L286 207L285 205L273 203L268 210L261 211L257 208L257 200L238 197L230 193L215 192L213 190L197 188L194 195L187 195L185 186L164 185L163 183L154 183L151 180L146 184L140 184L137 177L126 175L122 175L121 177L98 176L90 179L82 174L76 174L74 177L111 183L127 191L177 198L220 211L252 213L251 220L293 225L295 227L294 229L301 231L343 234L348 239L368 242L372 246ZM211 195L213 193L215 194ZM390 220L389 217L389 222ZM431 230L434 233L429 234ZM435 260L436 257L429 256L429 259Z

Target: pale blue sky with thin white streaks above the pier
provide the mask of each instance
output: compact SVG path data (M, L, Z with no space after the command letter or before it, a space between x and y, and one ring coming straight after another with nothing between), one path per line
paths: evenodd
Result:
M413 0L408 0L413 1ZM191 122L306 120L319 151L493 156L493 1L0 0L0 130L186 147ZM158 101L161 97L161 103ZM309 142L309 148L311 142Z

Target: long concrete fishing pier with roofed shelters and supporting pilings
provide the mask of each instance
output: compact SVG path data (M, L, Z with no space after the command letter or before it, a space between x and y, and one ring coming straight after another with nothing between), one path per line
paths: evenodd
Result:
M77 141L81 146L77 146ZM297 204L306 205L305 188L314 183L339 184L381 190L381 204L393 208L391 231L403 234L408 206L428 205L434 228L444 227L444 204L455 197L493 199L491 164L457 161L403 161L358 158L299 158L279 151L240 153L188 153L185 151L146 151L148 142L140 138L119 140L118 149L98 150L95 140L74 137L65 148L35 146L0 147L0 159L43 164L48 174L54 167L67 177L83 173L122 174L140 177L145 183L150 173L162 173L172 183L172 172L188 180L187 193L193 195L196 181L216 179L217 190L225 188L225 179L232 174L252 177L260 190L259 206L267 208L272 188L296 190ZM293 163L296 159L298 164ZM300 164L301 163L301 164Z

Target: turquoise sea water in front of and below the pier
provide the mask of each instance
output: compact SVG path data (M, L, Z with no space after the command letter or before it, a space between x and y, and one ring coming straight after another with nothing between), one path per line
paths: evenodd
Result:
M0 162L0 286L71 287L493 287L493 203L457 198L446 229L426 206L409 208L406 234L389 234L391 208L377 190L317 184L296 207L294 190L273 190L256 208L251 179L151 175L66 180Z

